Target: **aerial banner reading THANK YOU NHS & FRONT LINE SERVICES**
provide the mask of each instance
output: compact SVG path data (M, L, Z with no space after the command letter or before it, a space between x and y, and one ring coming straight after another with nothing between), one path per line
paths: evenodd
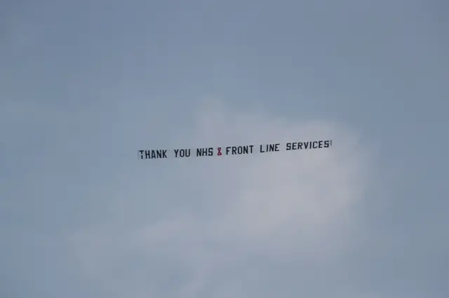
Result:
M260 145L206 147L206 148L178 148L178 149L145 149L138 150L138 159L166 159L188 158L223 155L250 155L255 153L269 153L290 150L311 150L330 148L332 140L326 141L302 141L284 143L267 143Z

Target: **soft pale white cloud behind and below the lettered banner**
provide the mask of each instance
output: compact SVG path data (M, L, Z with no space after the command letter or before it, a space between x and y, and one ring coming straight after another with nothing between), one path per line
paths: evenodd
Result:
M133 280L135 292L126 297L252 297L254 289L241 285L251 264L323 264L354 244L361 224L356 206L373 169L370 151L354 130L326 120L243 113L211 98L200 107L194 127L180 132L175 143L284 146L333 139L333 147L163 161L173 179L164 193L133 185L142 197L175 196L179 205L135 225L83 227L72 234L72 253L87 278L112 288L130 287ZM130 204L132 199L126 198ZM138 204L132 206L140 212ZM133 209L128 211L132 221ZM114 293L109 295L121 297Z

